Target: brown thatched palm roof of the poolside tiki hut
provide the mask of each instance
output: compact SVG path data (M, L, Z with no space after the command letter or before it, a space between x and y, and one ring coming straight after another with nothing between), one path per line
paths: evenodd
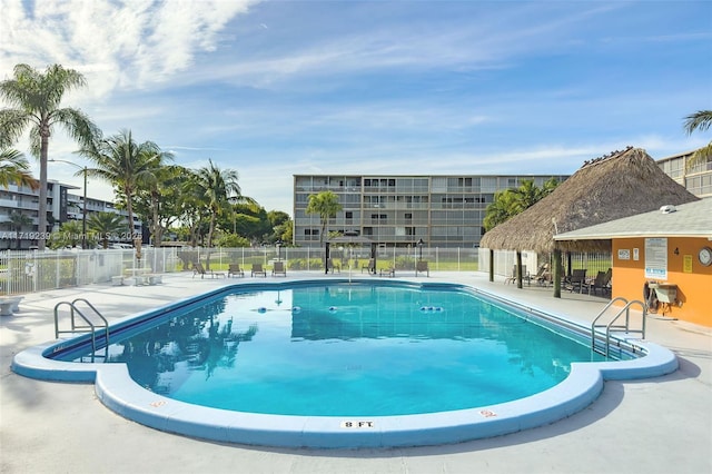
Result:
M554 235L698 200L641 148L586 161L544 199L484 235L481 247L507 250L606 250L610 240L554 241Z

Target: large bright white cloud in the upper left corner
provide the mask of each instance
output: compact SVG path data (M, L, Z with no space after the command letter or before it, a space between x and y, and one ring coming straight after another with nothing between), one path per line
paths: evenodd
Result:
M215 50L225 24L256 2L0 0L0 72L61 63L87 76L95 100L117 87L150 87Z

